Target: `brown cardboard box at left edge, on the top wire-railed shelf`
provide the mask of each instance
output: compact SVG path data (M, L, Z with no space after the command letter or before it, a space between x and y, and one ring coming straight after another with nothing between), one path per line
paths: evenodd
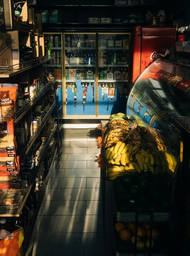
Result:
M11 35L0 33L0 66L12 66Z

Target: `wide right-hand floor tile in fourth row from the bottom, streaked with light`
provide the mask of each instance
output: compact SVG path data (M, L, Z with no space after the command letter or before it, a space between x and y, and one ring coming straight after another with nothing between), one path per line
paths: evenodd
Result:
M102 200L101 188L62 188L59 200Z

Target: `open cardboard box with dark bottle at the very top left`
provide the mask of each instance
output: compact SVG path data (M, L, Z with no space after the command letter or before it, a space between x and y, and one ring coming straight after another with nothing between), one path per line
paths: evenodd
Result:
M6 29L29 31L27 0L3 0Z

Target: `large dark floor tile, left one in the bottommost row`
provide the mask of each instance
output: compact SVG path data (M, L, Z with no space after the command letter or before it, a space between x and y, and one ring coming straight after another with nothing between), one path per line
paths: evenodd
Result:
M84 254L83 233L39 233L36 236L33 254Z

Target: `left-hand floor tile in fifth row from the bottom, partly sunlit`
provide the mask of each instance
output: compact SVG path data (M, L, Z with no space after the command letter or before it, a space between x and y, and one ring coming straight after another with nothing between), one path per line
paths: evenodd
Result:
M52 178L50 188L86 188L87 178Z

